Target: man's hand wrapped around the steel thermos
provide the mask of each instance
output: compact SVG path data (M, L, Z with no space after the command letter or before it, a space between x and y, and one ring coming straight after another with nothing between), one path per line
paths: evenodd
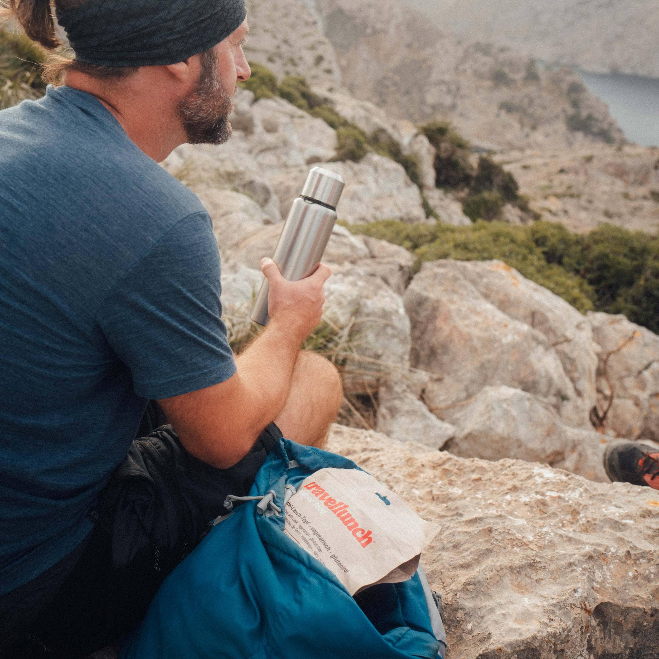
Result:
M268 315L270 322L288 328L302 343L320 323L325 304L323 285L331 270L320 264L306 279L287 281L271 258L261 261L261 270L268 279Z

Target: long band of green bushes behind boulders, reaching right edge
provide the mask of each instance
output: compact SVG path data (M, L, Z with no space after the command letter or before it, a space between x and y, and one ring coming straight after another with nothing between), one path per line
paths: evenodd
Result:
M384 221L348 228L399 244L419 262L499 259L581 312L625 314L659 332L659 237L609 224L581 235L542 221L477 221L471 227Z

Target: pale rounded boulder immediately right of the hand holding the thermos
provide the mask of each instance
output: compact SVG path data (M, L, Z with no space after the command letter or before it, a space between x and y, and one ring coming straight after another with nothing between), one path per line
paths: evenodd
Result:
M388 377L409 370L410 320L403 299L360 266L334 273L325 285L326 317L349 328L356 354L345 366L349 393L376 392Z

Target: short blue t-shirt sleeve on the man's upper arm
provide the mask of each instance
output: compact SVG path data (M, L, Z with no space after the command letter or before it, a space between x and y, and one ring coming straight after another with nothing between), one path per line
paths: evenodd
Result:
M170 229L103 301L98 324L137 395L169 398L236 372L219 269L211 219L197 213Z

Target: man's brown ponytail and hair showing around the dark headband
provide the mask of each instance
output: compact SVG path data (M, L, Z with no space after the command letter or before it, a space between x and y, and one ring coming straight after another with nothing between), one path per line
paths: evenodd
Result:
M51 4L59 11L84 5L87 0L5 0L3 14L14 18L32 41L53 51L62 45L57 38ZM60 84L67 71L80 71L99 80L121 80L136 72L138 67L103 67L51 55L43 66L42 78L51 84Z

